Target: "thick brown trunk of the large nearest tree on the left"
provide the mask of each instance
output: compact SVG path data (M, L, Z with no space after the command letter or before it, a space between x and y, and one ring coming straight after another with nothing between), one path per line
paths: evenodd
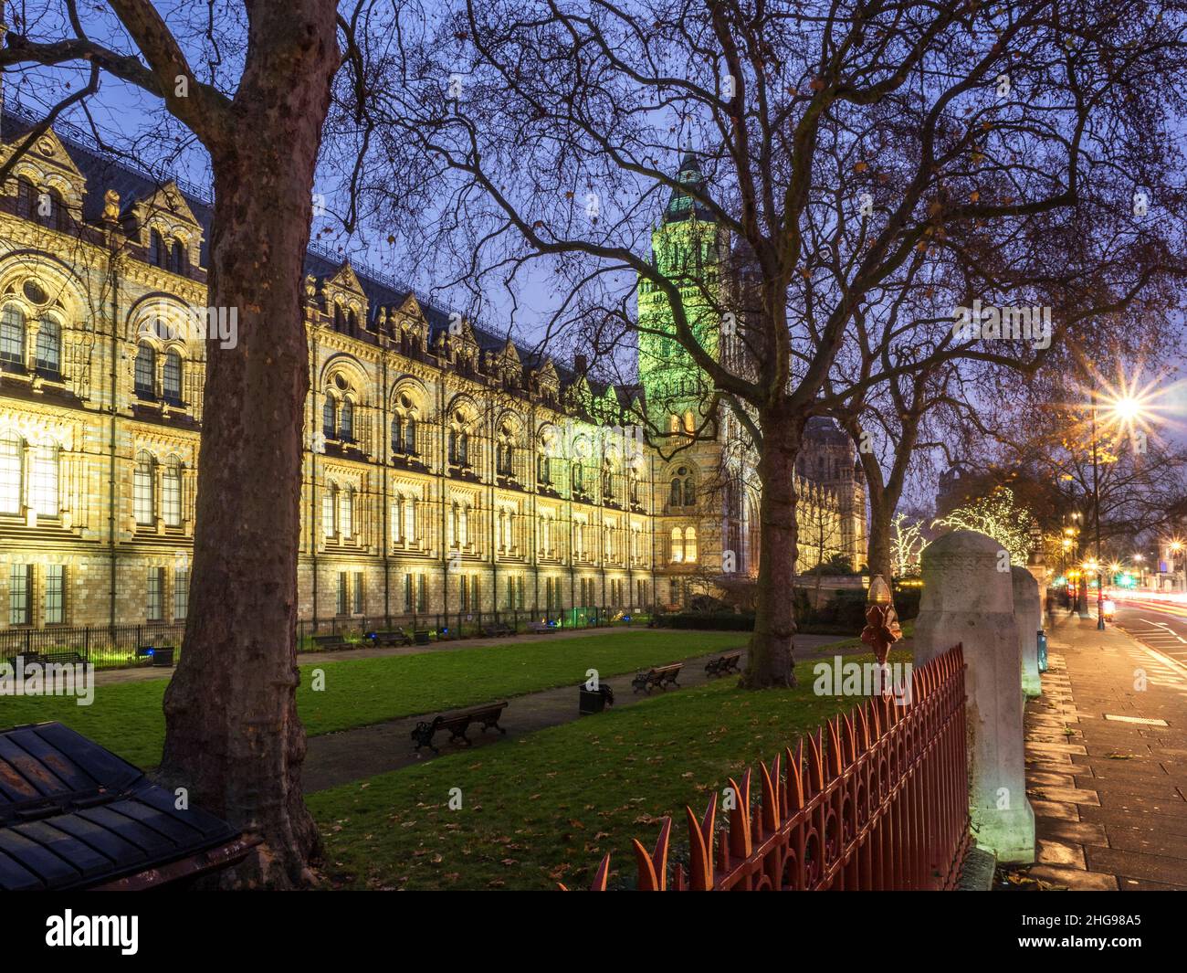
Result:
M313 170L338 64L329 0L255 5L235 126L215 172L210 301L239 311L207 345L193 583L165 694L161 777L262 836L224 886L292 887L318 844L301 800L297 552L309 390L304 257Z

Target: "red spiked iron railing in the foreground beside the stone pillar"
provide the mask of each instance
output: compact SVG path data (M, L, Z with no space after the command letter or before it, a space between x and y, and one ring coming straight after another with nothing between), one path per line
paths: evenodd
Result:
M762 797L750 805L750 769L732 790L718 835L717 795L688 820L688 867L668 884L672 819L652 852L635 840L645 891L948 890L969 848L964 655L957 645L912 674L907 706L889 696L836 716L795 752L760 764ZM719 840L721 839L721 840ZM719 841L719 844L718 844ZM605 891L610 855L591 889ZM561 889L565 886L561 885Z

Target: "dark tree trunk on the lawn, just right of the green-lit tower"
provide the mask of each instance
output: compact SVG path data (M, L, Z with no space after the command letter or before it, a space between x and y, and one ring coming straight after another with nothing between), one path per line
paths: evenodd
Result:
M795 685L792 647L795 634L795 485L793 473L799 455L802 421L782 411L760 415L762 454L758 480L758 605L754 636L741 685L763 689Z

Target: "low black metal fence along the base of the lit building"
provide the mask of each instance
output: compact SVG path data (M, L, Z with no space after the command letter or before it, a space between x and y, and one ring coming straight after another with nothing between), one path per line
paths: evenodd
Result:
M647 626L650 608L594 607L552 609L507 609L502 612L410 613L389 615L339 615L301 619L297 623L297 651L317 651L313 636L341 636L350 643L366 642L370 632L402 628L410 636L420 633L430 643L477 638L483 634L529 633L533 627L572 631L605 626ZM0 631L0 662L17 656L45 656L77 652L96 669L126 669L152 665L147 646L172 646L180 656L185 623L170 625L90 625L84 627L7 628Z

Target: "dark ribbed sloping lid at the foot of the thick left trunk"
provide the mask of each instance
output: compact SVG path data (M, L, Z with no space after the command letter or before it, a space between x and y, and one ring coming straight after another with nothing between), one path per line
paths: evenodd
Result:
M157 889L259 839L190 805L62 724L0 733L0 890Z

